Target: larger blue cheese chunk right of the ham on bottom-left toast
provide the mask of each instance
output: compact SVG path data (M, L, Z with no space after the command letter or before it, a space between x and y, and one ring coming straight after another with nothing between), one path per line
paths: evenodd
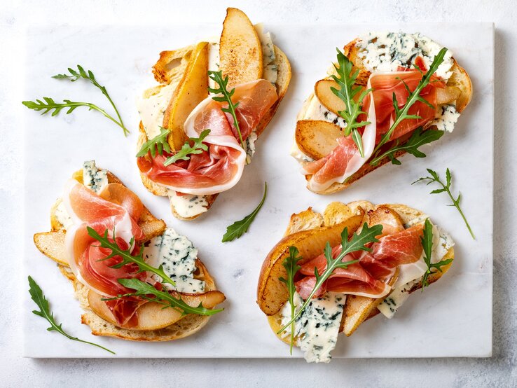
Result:
M205 282L194 279L193 275L197 257L198 249L192 242L172 228L151 239L149 246L144 248L146 262L156 268L162 265L165 275L176 283L175 287L170 284L165 284L165 287L184 293L205 292ZM152 277L157 282L162 281L158 275Z

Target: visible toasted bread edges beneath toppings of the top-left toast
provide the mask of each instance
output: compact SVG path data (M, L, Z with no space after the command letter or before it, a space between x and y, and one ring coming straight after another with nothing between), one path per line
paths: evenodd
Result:
M188 46L187 48L183 48L176 51L163 52L162 54L160 54L160 59L153 67L156 81L161 83L167 83L167 81L174 82L174 80L181 79L181 77L183 77L184 71L186 71L186 69L188 68L188 60L191 59L193 48L195 48L195 45ZM278 69L277 82L275 83L278 98L275 104L271 106L266 115L261 119L260 123L258 123L255 129L255 133L258 137L260 137L260 135L262 134L263 130L266 128L270 120L273 118L273 116L275 116L278 106L280 106L280 102L284 98L284 95L287 92L287 88L289 87L289 82L291 81L291 64L289 63L287 56L277 46L274 46L274 50L275 61L272 64L275 65ZM188 60L186 58L188 58ZM184 61L187 61L185 65ZM177 88L179 88L179 84ZM139 137L137 142L137 148L141 148L142 144L144 144L147 140L149 139L144 130L144 125L141 121L139 124ZM144 186L147 188L147 190L149 190L154 195L160 195L164 197L168 195L167 188L151 181L151 179L149 179L144 174L141 173L140 178L142 179L142 183L144 183ZM212 207L216 198L217 194L205 196L205 199L207 200L207 205L205 206L205 208L207 210L210 209L210 207ZM191 217L183 217L180 216L180 214L177 212L177 209L174 208L173 204L171 204L171 211L177 219L185 221L197 219L199 216L204 214L200 213Z

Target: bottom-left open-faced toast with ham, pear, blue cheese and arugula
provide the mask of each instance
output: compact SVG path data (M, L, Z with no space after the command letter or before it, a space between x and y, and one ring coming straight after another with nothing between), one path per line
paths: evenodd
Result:
M34 243L71 280L93 334L177 340L221 311L225 296L198 249L94 161L67 182L50 223Z

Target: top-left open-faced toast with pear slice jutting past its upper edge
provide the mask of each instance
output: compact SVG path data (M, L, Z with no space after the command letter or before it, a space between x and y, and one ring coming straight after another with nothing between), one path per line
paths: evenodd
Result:
M153 73L160 85L137 102L142 181L174 216L195 219L240 180L291 67L269 32L228 8L219 42L163 51Z

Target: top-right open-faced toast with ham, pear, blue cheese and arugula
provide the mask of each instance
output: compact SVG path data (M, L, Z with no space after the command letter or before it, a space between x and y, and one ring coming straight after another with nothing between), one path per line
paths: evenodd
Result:
M291 155L309 190L343 190L404 153L452 132L472 85L450 50L421 34L371 32L337 63L298 113Z

